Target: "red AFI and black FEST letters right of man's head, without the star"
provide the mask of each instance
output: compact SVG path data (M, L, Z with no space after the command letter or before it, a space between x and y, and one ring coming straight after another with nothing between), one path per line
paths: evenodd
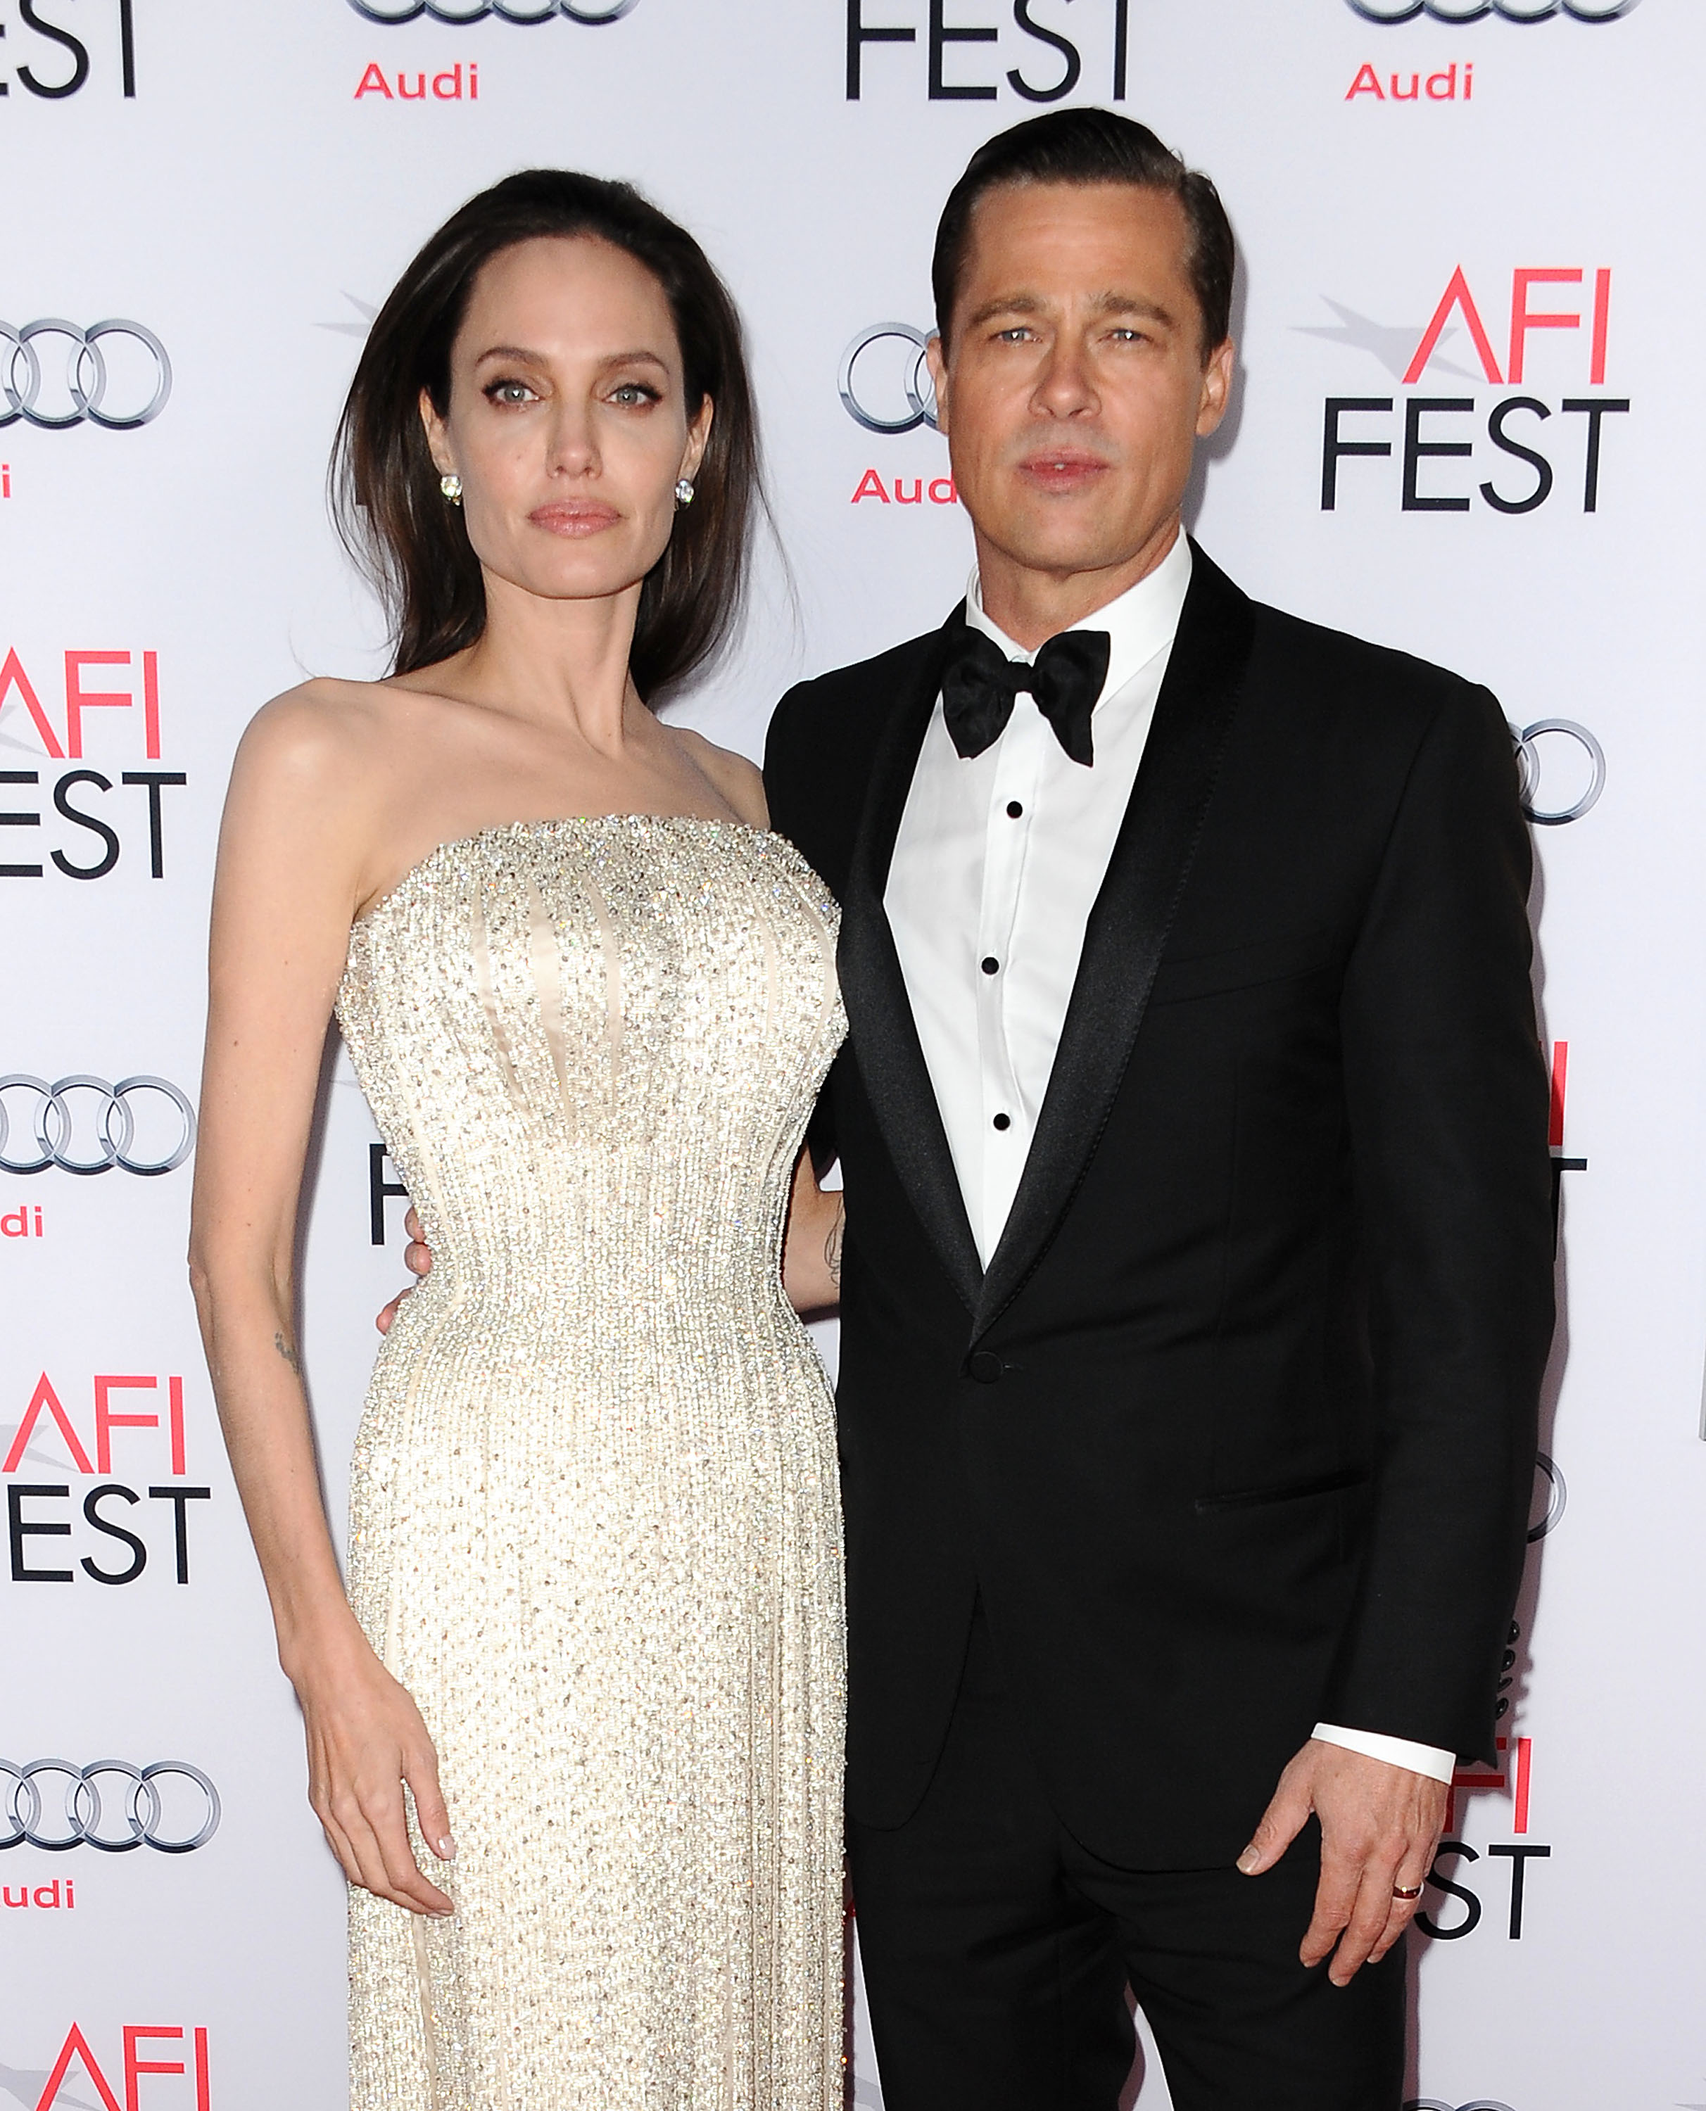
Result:
M1579 287L1577 304L1537 306L1535 287ZM1421 382L1446 331L1463 331L1486 382L1510 393L1491 403L1478 395L1408 395L1402 412L1396 397L1326 397L1322 511L1339 511L1347 490L1345 464L1379 460L1398 471L1387 471L1383 490L1387 498L1398 498L1402 513L1470 513L1486 507L1493 513L1522 515L1539 511L1554 494L1567 505L1579 496L1584 513L1598 513L1607 450L1615 422L1630 412L1630 399L1594 393L1548 401L1531 393L1524 378L1537 331L1577 331L1586 353L1586 386L1605 391L1611 270L1596 268L1592 281L1581 266L1522 266L1512 272L1501 369L1486 310L1459 264L1404 369L1406 388ZM1453 479L1440 467L1444 462L1478 462L1486 475L1476 477L1472 469ZM1375 488L1366 471L1358 488Z

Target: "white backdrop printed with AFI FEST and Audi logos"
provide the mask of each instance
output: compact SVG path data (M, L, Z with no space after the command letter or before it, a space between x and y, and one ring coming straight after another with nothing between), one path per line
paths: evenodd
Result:
M382 665L323 507L365 321L530 163L699 232L785 564L682 714L756 754L790 680L954 602L935 213L982 137L1100 101L1212 171L1244 247L1199 536L1491 682L1535 821L1567 1317L1410 2096L1700 2111L1704 84L1700 0L0 0L0 2107L344 2100L342 1883L184 1243L232 745ZM403 1203L342 1060L325 1100L342 1514Z

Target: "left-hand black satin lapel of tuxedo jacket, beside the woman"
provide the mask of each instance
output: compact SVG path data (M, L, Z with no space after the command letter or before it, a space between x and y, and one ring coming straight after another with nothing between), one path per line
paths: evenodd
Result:
M927 642L912 686L876 752L847 876L836 965L853 1060L899 1184L965 1309L975 1311L984 1269L883 908L906 794L942 688L942 663L963 621L963 612L954 610Z

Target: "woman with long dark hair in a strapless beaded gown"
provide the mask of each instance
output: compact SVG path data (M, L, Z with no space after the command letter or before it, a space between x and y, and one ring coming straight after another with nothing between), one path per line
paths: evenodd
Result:
M350 2100L838 2105L836 1467L779 1271L798 1159L788 1288L834 1294L834 906L758 773L642 701L743 578L728 296L627 186L509 177L380 310L338 488L397 661L239 749L192 1277L355 1887ZM291 1296L334 1007L437 1256L348 1596Z

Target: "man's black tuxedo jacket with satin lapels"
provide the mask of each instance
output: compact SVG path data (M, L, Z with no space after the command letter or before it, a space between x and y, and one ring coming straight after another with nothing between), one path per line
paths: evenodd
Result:
M1197 551L984 1271L883 912L959 623L764 764L842 901L849 1811L916 1809L982 1592L1077 1839L1220 1864L1318 1718L1493 1754L1552 1336L1512 743Z

